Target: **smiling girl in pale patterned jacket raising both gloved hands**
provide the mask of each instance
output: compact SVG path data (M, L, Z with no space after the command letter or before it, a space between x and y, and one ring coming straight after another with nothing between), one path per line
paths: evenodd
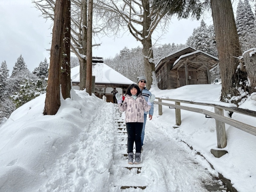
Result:
M126 92L126 97L122 103L122 98L119 93L116 93L116 100L121 111L125 111L125 124L128 133L127 153L128 164L133 164L133 144L135 142L135 164L140 163L141 157L141 132L144 122L144 111L149 111L151 103L155 100L155 95L152 94L148 98L148 102L141 95L138 85L131 84Z

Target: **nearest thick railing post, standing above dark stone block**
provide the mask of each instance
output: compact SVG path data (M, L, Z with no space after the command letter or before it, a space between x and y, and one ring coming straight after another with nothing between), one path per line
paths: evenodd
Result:
M218 115L224 116L223 109L214 107L214 112ZM215 123L216 123L218 148L225 148L227 146L225 123L218 120L215 120Z

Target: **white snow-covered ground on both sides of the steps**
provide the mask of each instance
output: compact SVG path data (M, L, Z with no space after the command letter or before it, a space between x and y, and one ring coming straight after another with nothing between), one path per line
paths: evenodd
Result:
M151 92L171 99L219 101L220 90L221 85L211 84ZM124 172L113 167L117 158L126 165L126 149L117 147L114 105L72 90L72 99L61 100L55 116L43 116L44 100L45 94L29 101L0 124L0 191L120 191L114 184ZM240 107L256 111L256 94ZM256 126L255 117L234 113L232 118ZM141 177L148 181L144 191L205 191L201 181L217 172L240 192L256 191L256 136L226 124L228 154L215 158L210 153L217 147L215 120L188 111L181 111L181 120L174 129L175 110L163 106L159 116L156 105L147 121L140 164Z

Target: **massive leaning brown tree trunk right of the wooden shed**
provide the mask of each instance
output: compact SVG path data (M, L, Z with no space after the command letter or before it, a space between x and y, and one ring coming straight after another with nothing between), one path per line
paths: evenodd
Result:
M234 12L230 0L211 0L212 18L219 53L220 76L222 82L221 101L237 96L238 83L236 68L241 55Z

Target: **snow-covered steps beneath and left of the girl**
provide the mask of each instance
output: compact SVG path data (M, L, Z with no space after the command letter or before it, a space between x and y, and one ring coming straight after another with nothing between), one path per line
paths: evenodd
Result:
M124 123L124 113L121 112L117 106L114 104L115 108L115 122L116 130L118 132L116 138L116 150L114 151L114 163L111 166L113 170L113 186L123 189L145 189L148 185L148 178L145 174L141 174L143 169L143 162L140 164L128 164L127 159L127 132L126 125ZM116 154L115 154L116 153ZM135 153L135 150L134 150ZM143 159L143 158L142 158ZM141 159L141 160L142 160ZM110 170L110 173L111 173ZM139 189L137 189L139 190ZM136 191L137 191L136 190ZM130 190L129 190L130 191Z

